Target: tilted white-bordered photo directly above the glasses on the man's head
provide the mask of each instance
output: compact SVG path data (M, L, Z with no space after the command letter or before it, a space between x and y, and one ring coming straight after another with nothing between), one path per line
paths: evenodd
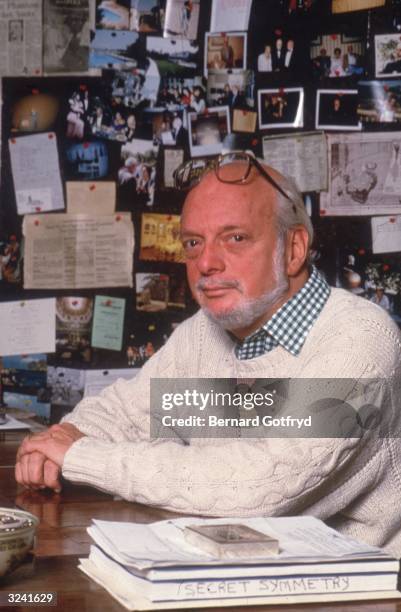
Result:
M189 147L193 157L218 155L222 152L223 141L231 132L230 109L217 106L207 113L188 113Z

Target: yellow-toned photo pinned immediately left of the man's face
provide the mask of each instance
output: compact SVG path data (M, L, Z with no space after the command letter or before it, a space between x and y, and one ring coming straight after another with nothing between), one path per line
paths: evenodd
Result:
M179 215L142 214L139 259L184 263Z

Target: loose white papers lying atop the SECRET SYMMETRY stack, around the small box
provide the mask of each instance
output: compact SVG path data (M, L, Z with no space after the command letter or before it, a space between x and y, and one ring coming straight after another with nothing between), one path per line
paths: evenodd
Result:
M186 525L227 523L227 519L181 519L159 521L150 525L94 520L89 535L116 561L137 568L168 565L218 565L221 559L203 553L185 539ZM230 523L245 524L267 533L280 542L280 553L258 557L258 562L284 563L295 560L352 559L382 556L373 546L341 536L314 517L240 518ZM255 557L236 558L232 564L255 563ZM225 564L230 561L225 559Z

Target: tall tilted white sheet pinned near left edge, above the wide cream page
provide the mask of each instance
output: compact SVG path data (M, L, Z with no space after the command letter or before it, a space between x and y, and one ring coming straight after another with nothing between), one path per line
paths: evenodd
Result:
M56 135L32 134L8 143L18 214L63 209Z

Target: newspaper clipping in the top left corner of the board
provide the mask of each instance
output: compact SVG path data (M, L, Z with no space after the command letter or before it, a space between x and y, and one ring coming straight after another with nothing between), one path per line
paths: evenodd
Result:
M41 73L41 0L0 0L0 74Z

